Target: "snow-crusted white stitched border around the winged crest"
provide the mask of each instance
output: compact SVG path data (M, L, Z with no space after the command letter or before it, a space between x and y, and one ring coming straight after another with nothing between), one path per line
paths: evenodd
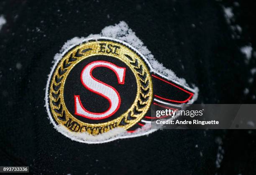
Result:
M118 25L122 25L119 28L119 30L120 30L119 32L125 33L125 34L113 35L113 31L111 31L110 27L114 27L114 28L117 27L117 29L118 29ZM127 31L124 31L124 27L125 27L125 30L127 30ZM106 30L106 28L110 28L110 30ZM177 78L177 76L175 76L175 74L171 70L165 68L158 61L156 61L154 59L154 56L151 54L151 52L148 51L146 46L143 45L142 41L139 40L135 36L135 33L130 28L128 28L128 25L125 22L121 21L119 24L117 24L115 26L108 26L106 28L104 28L102 30L102 33L100 33L99 35L90 35L87 38L75 37L75 38L72 38L71 40L69 40L67 43L65 43L60 51L61 53L57 53L54 56L54 60L55 60L54 66L52 66L51 73L49 74L49 77L47 80L46 93L45 93L45 102L46 102L45 105L46 105L46 110L47 110L49 119L50 119L51 123L54 125L54 128L58 132L60 132L61 134L64 134L66 137L69 137L70 139L75 140L77 142L83 142L83 143L88 143L88 144L105 143L105 142L113 141L115 139L139 137L139 136L150 134L157 130L157 129L150 129L151 124L148 123L148 124L145 124L143 127L138 128L133 133L128 133L125 131L125 129L122 129L122 128L115 128L107 133L99 134L97 136L92 136L87 133L74 133L74 132L71 132L68 129L64 128L63 126L56 125L53 118L51 117L51 112L49 109L49 102L48 102L48 90L49 90L50 79L54 72L55 67L57 66L59 60L64 56L64 54L67 53L67 51L69 51L74 46L78 46L81 43L87 42L89 40L98 40L98 39L109 39L109 40L120 42L120 43L124 44L125 46L128 46L128 47L132 48L134 51L136 51L141 56L141 58L143 58L143 60L148 64L148 66L150 68L150 72L154 72L154 74L158 74L170 81L174 81L176 84L186 87L186 89L192 91L195 95L192 97L192 99L189 100L189 102L188 102L189 104L192 104L197 99L197 96L198 96L198 88L195 87L195 89L192 89L192 88L188 87L186 82L184 81L184 79ZM115 31L115 33L118 33L118 31ZM106 36L112 36L113 38L106 37ZM132 37L131 40L127 39L127 38L129 38L129 36ZM133 43L133 41L135 41L135 42ZM137 42L139 42L139 44ZM141 54L141 52L146 53L146 57L143 54ZM151 66L151 64L154 64L155 68L153 68ZM160 69L162 68L162 69L159 70L156 68L160 68ZM161 72L163 72L163 71L164 71L164 74L166 74L167 76L161 74Z

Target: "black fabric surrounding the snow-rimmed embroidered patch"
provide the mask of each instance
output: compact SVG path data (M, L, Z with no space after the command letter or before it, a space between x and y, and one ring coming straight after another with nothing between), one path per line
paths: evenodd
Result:
M239 48L256 44L256 2L234 2L1 0L0 165L28 165L33 174L256 174L253 130L159 130L87 145L56 132L44 107L61 46L120 20L159 62L198 86L197 103L255 103L256 81L248 83L255 58L246 64ZM231 38L223 5L234 7L240 39Z

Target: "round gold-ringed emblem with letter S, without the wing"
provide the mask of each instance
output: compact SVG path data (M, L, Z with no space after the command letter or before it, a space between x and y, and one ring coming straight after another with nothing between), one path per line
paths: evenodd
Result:
M127 130L153 98L149 68L123 43L87 41L67 51L49 77L48 107L55 124L92 136Z

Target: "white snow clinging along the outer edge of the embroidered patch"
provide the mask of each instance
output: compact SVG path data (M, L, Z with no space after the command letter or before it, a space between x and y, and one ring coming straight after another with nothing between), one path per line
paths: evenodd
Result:
M146 58L146 60L148 60L148 62L152 66L152 69L155 72L163 75L167 79L170 79L170 80L176 82L177 84L180 84L181 86L186 86L187 89L190 89L191 91L193 91L195 93L193 98L189 100L189 102L188 102L189 104L192 104L197 99L199 89L195 85L193 85L193 88L189 88L185 79L178 78L172 70L165 68L161 63L159 63L154 58L152 53L148 50L148 48L146 46L144 46L143 42L136 36L136 34L128 27L128 25L124 21L120 21L120 23L118 23L116 25L110 25L108 27L103 28L100 34L91 34L90 36L88 36L86 38L74 37L74 38L68 40L66 43L64 43L64 46L62 46L60 53L57 53L54 56L54 66L56 66L58 61L62 58L62 56L70 48L72 48L76 45L79 45L79 44L83 43L84 41L97 40L98 38L102 38L102 37L112 38L112 39L116 39L118 41L123 41L125 43L130 44L134 50L137 50L138 52L140 52ZM51 74L53 71L54 70L52 69ZM49 86L49 79L48 79L46 87L48 87L48 86ZM46 90L46 99L45 99L46 100L46 108L47 108L47 112L50 116L47 96L48 96L48 91ZM54 123L53 119L51 119L51 117L50 117L50 120L54 124L54 127L56 128L56 130L58 130L59 132L63 133L64 135L71 138L72 140L76 140L78 142L85 142L85 143L104 143L104 142L110 142L115 139L138 137L138 136L150 134L157 130L157 129L151 129L151 124L147 123L143 127L136 129L136 131L133 133L128 133L123 128L115 128L107 133L99 134L97 136L92 136L87 133L74 133L74 132L68 131L63 126L56 125ZM87 139L89 138L90 141L88 141L86 138Z

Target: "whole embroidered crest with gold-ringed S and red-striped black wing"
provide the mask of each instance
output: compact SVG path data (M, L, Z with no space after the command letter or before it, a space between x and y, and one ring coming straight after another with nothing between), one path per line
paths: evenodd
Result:
M116 38L83 39L57 57L46 87L47 112L59 132L79 142L148 134L156 130L150 129L152 106L195 100L196 91L159 74Z

